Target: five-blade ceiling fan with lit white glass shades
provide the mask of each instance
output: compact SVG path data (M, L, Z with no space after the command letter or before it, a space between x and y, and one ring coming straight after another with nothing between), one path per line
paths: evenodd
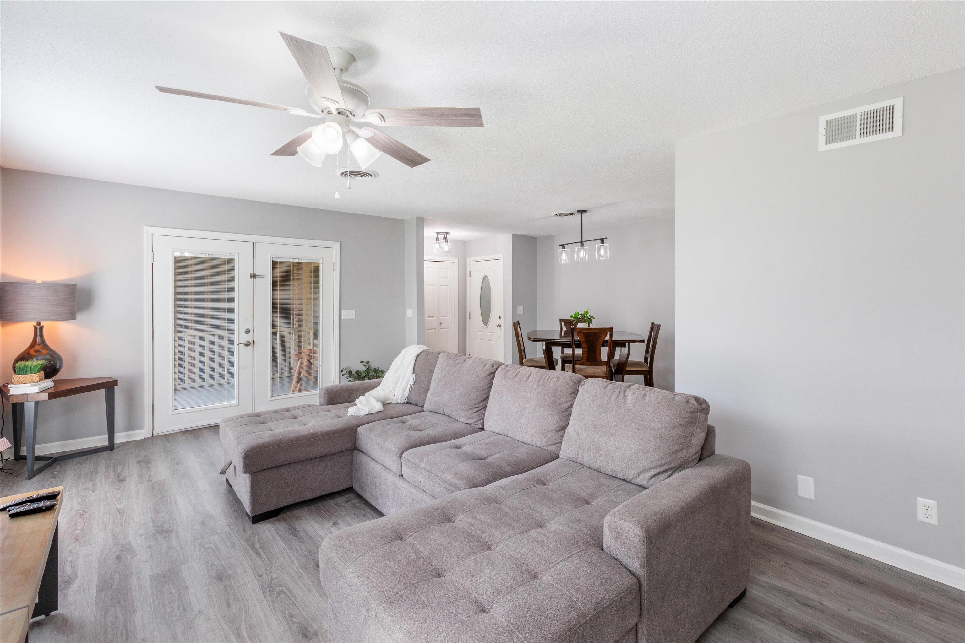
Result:
M279 32L281 33L281 32ZM355 159L363 170L383 152L410 168L422 165L429 159L388 134L373 127L358 127L354 123L377 125L435 125L446 127L482 127L483 115L478 107L369 107L369 93L342 75L355 62L355 57L342 47L331 50L324 45L295 38L282 33L298 67L301 67L308 87L309 103L316 113L298 107L286 107L244 100L215 94L202 94L187 90L155 85L158 92L180 94L223 100L240 105L276 109L295 116L324 119L320 125L309 127L284 146L271 153L272 156L298 154L316 167L321 167L327 154L337 154L347 141Z

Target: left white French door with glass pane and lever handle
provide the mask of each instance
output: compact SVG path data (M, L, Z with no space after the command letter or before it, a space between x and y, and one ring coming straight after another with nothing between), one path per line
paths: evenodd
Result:
M252 243L154 236L154 433L251 413ZM247 331L247 334L246 334Z

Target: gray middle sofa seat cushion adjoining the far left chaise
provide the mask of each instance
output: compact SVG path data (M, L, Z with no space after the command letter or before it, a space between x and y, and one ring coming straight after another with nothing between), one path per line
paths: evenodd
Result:
M424 411L359 427L355 445L378 464L401 475L402 454L409 449L449 442L473 433L479 433L479 429L446 415Z

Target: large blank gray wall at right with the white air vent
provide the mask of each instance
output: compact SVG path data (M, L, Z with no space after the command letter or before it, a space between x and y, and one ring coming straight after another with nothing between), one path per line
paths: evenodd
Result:
M896 96L903 136L817 151L819 116ZM676 150L676 385L709 401L718 451L758 502L958 567L963 114L956 69Z

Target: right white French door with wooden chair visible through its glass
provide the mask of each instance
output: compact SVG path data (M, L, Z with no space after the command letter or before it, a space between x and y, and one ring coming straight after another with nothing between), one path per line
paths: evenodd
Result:
M338 382L334 269L331 248L255 244L256 410L317 404Z

